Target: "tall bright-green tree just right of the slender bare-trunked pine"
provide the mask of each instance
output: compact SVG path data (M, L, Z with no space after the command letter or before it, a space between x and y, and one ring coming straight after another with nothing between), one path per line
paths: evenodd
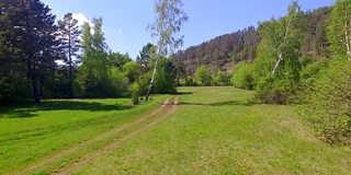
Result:
M89 23L83 25L83 55L78 81L89 97L106 97L107 92L111 92L107 45L102 31L102 19L93 19L92 23L92 27ZM93 34L91 34L91 28L93 28Z

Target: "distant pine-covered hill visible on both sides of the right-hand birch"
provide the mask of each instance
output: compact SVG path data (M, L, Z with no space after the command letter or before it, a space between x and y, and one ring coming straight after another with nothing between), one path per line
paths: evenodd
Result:
M328 55L326 20L331 8L325 7L305 12L307 32L302 52L305 56L322 57ZM217 36L197 46L192 46L176 54L173 61L179 65L184 74L191 75L199 66L205 65L214 72L216 70L231 72L240 61L252 61L256 58L260 42L258 30L253 26Z

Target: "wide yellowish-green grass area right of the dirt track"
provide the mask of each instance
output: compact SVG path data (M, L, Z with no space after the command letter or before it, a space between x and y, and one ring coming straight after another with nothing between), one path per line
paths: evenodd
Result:
M183 88L178 110L75 174L351 174L351 149L315 139L292 106L233 88Z

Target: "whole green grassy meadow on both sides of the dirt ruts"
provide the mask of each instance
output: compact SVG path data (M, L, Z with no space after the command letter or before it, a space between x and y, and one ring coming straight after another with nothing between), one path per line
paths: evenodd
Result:
M109 137L170 95L136 107L131 100L91 100L1 108L0 174L351 174L351 149L316 139L293 106L250 104L253 93L234 88L179 91L177 106Z

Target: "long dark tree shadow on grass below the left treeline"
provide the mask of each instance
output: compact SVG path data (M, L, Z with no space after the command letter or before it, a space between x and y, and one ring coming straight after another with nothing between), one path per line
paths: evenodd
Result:
M78 101L47 101L41 104L8 106L0 108L0 118L30 118L35 117L36 112L47 110L88 110L88 112L111 112L125 110L133 108L132 105L106 105L94 102L78 102Z

